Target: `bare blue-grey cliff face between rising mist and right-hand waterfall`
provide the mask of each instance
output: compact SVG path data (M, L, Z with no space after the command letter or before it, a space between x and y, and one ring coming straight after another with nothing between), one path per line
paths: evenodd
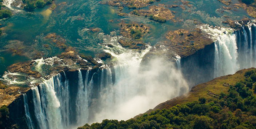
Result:
M214 78L214 43L181 58L181 72L190 88Z

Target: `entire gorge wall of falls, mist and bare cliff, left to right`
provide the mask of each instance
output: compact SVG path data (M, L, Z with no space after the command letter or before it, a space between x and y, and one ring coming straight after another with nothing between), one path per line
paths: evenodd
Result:
M205 49L186 58L177 56L173 63L165 58L152 58L143 69L140 66L145 64L140 63L149 46L145 52L132 52L110 40L115 49L107 47L106 52L117 58L117 65L62 71L32 87L23 94L21 102L13 102L10 116L17 119L13 121L26 116L24 128L29 129L69 129L104 119L127 120L187 93L195 84L255 66L254 24L237 31L201 28L215 40ZM197 72L189 66L198 68Z

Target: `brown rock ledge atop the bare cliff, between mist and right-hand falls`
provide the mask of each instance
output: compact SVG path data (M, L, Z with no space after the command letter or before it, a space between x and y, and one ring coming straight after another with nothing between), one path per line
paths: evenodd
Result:
M154 55L165 55L170 60L176 59L177 56L185 58L193 55L205 46L212 44L214 41L210 35L204 33L200 28L193 30L179 29L166 33L166 40L159 42L153 49L147 53L142 64L147 62Z

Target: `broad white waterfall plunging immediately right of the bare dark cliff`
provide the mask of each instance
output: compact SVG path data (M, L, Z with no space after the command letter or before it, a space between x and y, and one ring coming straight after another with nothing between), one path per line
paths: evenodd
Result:
M234 74L239 69L237 61L236 35L229 28L213 28L207 25L201 27L209 35L213 36L214 53L214 77Z

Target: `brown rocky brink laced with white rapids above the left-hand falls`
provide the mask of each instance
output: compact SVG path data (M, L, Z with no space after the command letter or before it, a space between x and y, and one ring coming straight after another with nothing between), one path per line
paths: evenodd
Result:
M111 55L109 53L100 53L98 58L106 60L107 58L111 58ZM65 52L61 53L58 57L45 58L45 62L41 63L47 65L42 66L42 70L38 69L38 67L41 67L40 64L38 65L40 60L41 59L16 63L8 67L8 72L3 75L6 79L0 80L0 107L11 104L15 99L19 98L22 93L26 93L30 90L30 86L37 86L44 79L49 79L51 76L62 71L76 71L77 69L93 70L99 69L100 66L102 66L102 63L93 57L79 56L72 47L67 48ZM10 83L20 81L20 76L23 77L22 79L24 80L22 80L22 82L24 83ZM31 80L34 82L32 83Z

